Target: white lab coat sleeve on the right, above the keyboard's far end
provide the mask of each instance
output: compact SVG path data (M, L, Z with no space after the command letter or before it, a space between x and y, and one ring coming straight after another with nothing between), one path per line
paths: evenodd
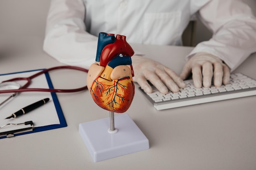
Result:
M256 18L241 0L211 0L198 14L213 37L200 42L187 60L195 53L207 52L222 59L234 71L256 51Z

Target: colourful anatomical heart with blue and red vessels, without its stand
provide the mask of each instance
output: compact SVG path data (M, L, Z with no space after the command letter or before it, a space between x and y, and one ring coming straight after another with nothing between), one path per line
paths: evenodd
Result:
M133 54L126 36L99 33L96 61L89 68L87 86L101 108L124 113L130 107L135 93Z

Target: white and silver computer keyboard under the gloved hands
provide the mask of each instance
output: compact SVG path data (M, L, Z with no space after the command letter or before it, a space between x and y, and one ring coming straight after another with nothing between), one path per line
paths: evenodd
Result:
M185 83L186 88L180 89L180 92L169 91L166 95L154 86L153 93L145 93L141 87L139 89L157 110L256 95L256 80L241 73L231 74L229 84L220 87L195 88L193 80L185 80Z

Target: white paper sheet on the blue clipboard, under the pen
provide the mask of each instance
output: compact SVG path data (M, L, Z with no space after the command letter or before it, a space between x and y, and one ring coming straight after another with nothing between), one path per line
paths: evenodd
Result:
M1 75L0 82L16 78L16 77L28 77L39 71L15 73L8 75ZM24 84L25 81L18 81L19 84ZM28 88L49 88L45 74L39 75L34 79L31 79L31 84ZM0 102L4 101L12 93L0 93ZM25 115L21 115L16 118L5 119L10 116L12 113L28 106L34 102L38 102L41 99L49 98L49 102L36 108L35 110L30 111ZM56 108L52 99L52 95L49 92L21 92L18 93L13 99L9 100L6 104L0 106L0 126L4 124L19 124L24 123L25 121L33 121L34 127L47 126L53 124L60 124ZM23 128L24 126L22 126ZM25 126L27 127L27 126ZM29 127L29 126L28 126ZM0 128L0 132L5 132L8 130L19 129L17 126L6 126Z

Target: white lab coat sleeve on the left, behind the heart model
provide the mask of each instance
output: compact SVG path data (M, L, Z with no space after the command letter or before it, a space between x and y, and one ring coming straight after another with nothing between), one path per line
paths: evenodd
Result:
M64 64L89 68L98 38L85 31L84 16L83 0L52 0L43 50Z

